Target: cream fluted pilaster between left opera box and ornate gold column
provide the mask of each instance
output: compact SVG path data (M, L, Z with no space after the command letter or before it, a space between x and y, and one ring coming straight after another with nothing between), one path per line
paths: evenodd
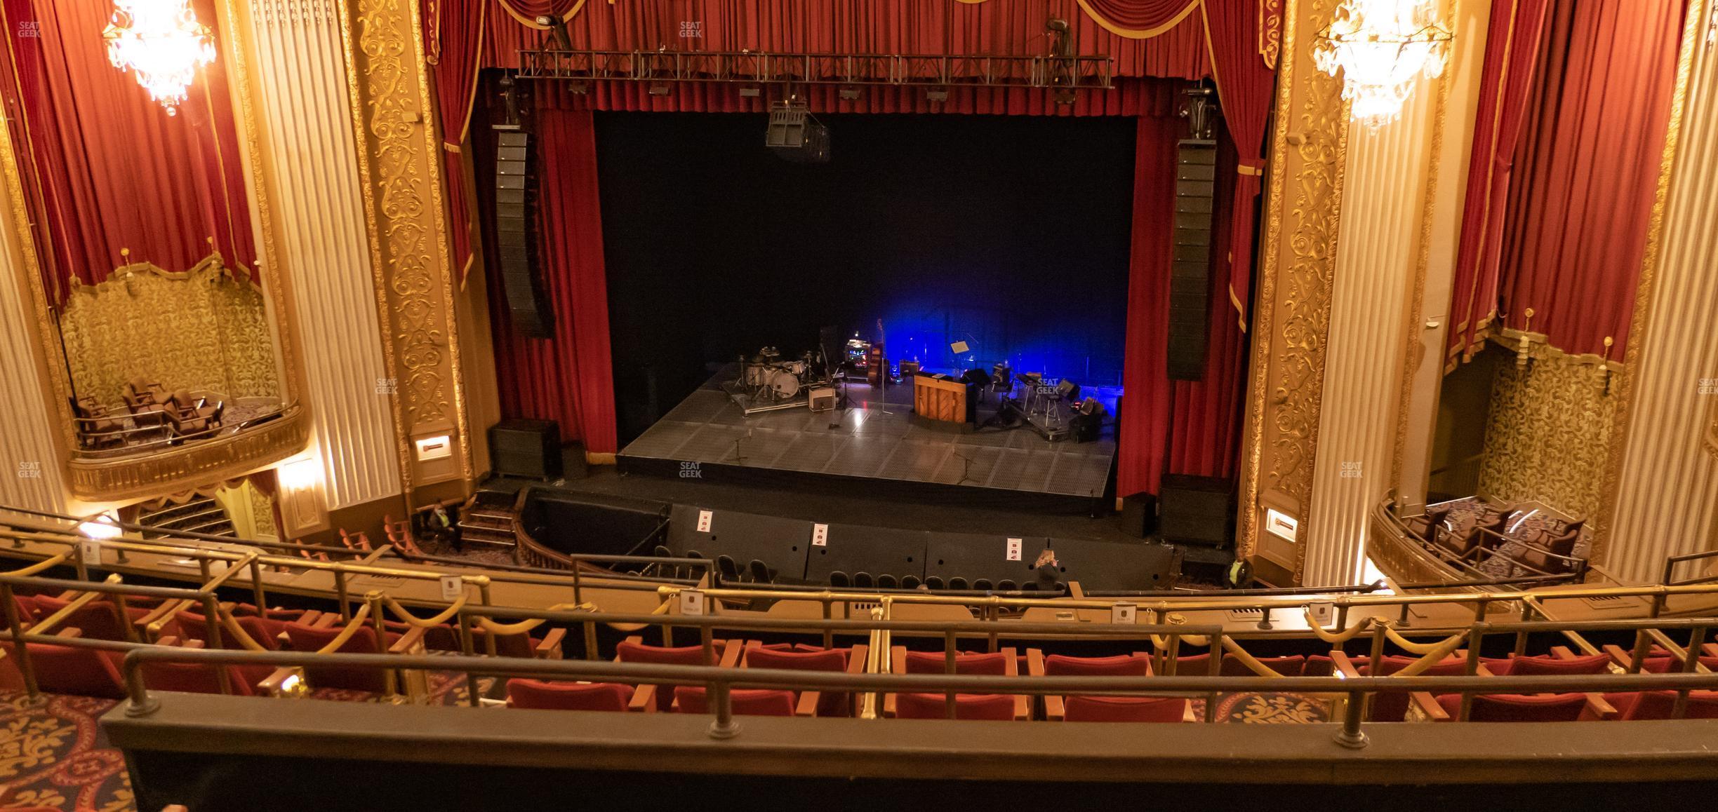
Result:
M261 141L328 508L400 493L400 455L333 0L249 9Z

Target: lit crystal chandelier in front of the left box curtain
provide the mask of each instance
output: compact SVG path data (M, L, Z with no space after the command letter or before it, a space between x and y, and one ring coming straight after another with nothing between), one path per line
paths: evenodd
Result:
M115 0L113 22L101 33L113 67L177 112L198 69L215 62L215 34L198 22L191 0Z

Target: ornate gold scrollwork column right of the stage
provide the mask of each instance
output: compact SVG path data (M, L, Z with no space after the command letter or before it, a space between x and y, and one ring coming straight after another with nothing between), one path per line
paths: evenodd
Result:
M1313 501L1337 223L1347 160L1342 84L1313 65L1338 0L1288 0L1266 185L1264 244L1242 434L1239 551L1295 572L1295 544L1266 541L1266 508L1304 520Z

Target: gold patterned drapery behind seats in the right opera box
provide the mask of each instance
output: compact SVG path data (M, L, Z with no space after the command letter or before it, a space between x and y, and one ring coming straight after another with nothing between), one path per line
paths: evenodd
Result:
M1601 364L1544 343L1532 343L1527 357L1527 366L1500 362L1493 378L1479 491L1596 520L1622 376L1611 369L1606 391Z

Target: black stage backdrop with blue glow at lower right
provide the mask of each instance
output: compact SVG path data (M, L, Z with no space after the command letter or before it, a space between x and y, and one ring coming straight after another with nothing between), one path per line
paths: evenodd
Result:
M763 115L596 113L622 443L710 362L797 355L823 324L883 319L928 366L1120 381L1134 118L821 120L832 160L799 165Z

